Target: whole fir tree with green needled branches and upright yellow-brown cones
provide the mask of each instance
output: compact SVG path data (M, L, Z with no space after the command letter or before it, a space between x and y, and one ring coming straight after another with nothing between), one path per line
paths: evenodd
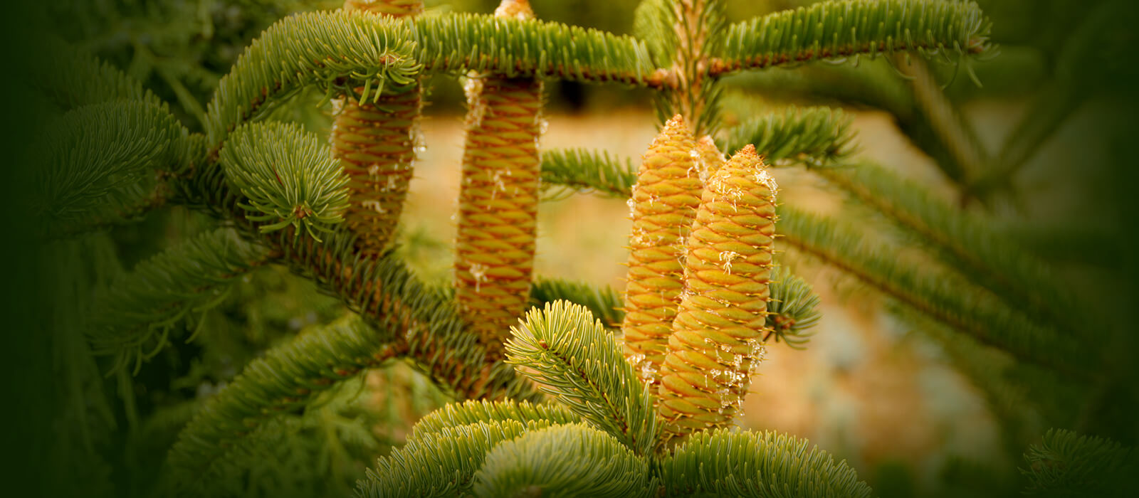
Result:
M796 258L886 297L1023 454L1021 472L951 462L947 489L1133 488L1131 321L1103 313L1133 281L1072 283L1050 241L1076 235L1001 222L1089 89L1121 90L1125 2L1091 2L1055 38L948 0L744 20L719 0L644 0L631 34L541 20L526 0L65 3L39 11L57 28L27 66L42 119L17 179L46 262L31 309L51 352L51 495L870 496L806 440L730 426L767 348L804 347L819 321ZM1057 76L990 151L961 111L983 90L962 83L1016 88L1017 50ZM468 103L444 285L396 236L437 78ZM557 82L652 93L661 133L640 164L543 150ZM954 202L852 160L839 109L747 110L796 92L890 113ZM295 123L326 107L330 130ZM784 167L866 216L780 204ZM548 186L629 200L624 292L533 274ZM379 367L387 413L359 396Z

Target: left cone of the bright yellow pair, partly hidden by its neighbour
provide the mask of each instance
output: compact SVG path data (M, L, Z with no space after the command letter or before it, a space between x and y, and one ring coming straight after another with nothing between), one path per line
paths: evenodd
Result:
M677 115L649 144L629 200L633 226L625 283L625 358L657 384L683 290L685 239L700 204L700 158Z

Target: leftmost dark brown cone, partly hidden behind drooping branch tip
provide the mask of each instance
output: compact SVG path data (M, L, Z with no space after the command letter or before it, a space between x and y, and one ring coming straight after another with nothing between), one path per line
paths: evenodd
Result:
M424 7L423 0L346 0L344 9L408 17L423 13ZM408 197L421 89L418 82L387 83L375 102L360 103L350 96L336 107L331 144L350 189L344 218L359 235L359 248L376 255L392 241Z

